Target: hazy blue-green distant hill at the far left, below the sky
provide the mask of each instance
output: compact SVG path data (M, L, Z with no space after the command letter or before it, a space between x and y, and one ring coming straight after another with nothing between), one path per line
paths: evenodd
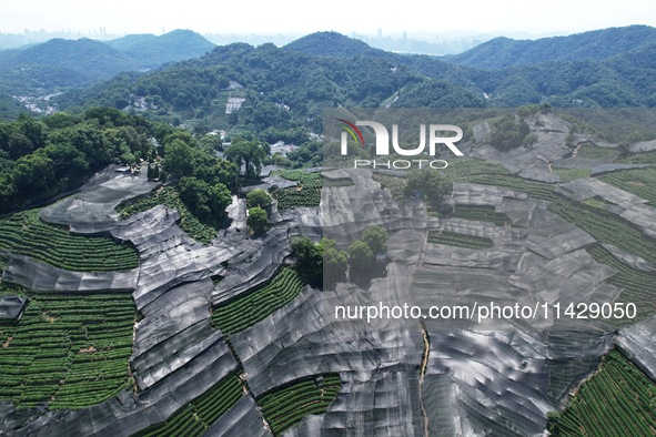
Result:
M53 39L24 49L0 51L0 91L20 95L85 87L120 72L195 58L213 47L191 31L173 31L161 37L129 35L107 43Z

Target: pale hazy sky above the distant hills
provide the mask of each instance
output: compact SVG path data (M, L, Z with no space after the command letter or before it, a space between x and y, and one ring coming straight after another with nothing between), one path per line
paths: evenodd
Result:
M654 0L453 0L235 1L183 0L0 0L0 32L24 29L108 33L161 33L192 29L200 33L350 34L454 30L504 33L574 33L649 24L656 27ZM369 7L366 4L375 4ZM391 4L391 6L383 6Z

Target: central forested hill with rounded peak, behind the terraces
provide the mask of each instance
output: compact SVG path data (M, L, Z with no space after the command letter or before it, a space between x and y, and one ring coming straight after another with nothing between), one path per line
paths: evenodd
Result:
M460 70L453 67L452 70ZM443 73L448 73L445 71ZM483 94L453 75L453 83L418 74L403 65L397 55L323 57L289 48L244 43L219 47L200 59L169 65L141 77L121 75L77 95L62 104L113 105L123 109L131 96L152 102L151 113L165 116L219 121L249 125L254 130L285 128L294 120L313 119L321 123L324 108L342 105L413 105L412 91L440 82L445 95L432 94L427 105L480 106ZM231 83L236 89L229 90ZM230 120L225 115L228 99L245 99L243 108ZM432 101L434 99L435 101ZM286 129L286 128L285 128Z

